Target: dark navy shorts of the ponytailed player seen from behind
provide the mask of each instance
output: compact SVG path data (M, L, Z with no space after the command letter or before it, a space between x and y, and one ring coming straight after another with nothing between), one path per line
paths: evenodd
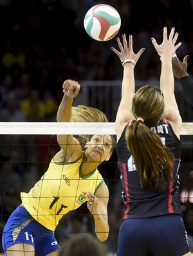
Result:
M118 235L117 256L181 256L188 253L185 226L179 215L125 219Z

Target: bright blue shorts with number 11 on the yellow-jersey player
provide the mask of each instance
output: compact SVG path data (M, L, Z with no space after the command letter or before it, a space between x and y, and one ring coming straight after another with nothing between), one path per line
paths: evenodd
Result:
M35 248L35 256L60 250L54 232L35 221L23 206L18 206L6 222L2 244L4 251L14 244L31 244Z

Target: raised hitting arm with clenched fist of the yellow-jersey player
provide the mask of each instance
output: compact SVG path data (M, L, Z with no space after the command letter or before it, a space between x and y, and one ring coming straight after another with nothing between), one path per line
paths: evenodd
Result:
M66 80L63 84L64 97L59 105L57 112L57 122L70 122L71 121L71 108L73 104L73 99L78 95L80 91L80 84L77 81ZM57 135L57 141L60 145L61 152L65 161L73 161L77 159L82 152L80 143L73 135ZM76 148L75 148L76 146ZM76 150L75 150L76 149ZM60 154L59 152L58 154ZM58 158L60 159L60 158Z

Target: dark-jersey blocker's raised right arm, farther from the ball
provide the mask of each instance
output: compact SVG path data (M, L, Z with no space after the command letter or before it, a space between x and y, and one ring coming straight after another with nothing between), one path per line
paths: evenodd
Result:
M159 45L156 43L156 39L152 38L152 44L161 59L160 88L165 100L165 116L163 118L170 122L174 132L179 137L181 130L181 116L174 95L172 56L179 46L181 46L181 43L176 44L178 32L175 34L174 32L175 28L172 28L168 37L167 28L163 28L163 42Z

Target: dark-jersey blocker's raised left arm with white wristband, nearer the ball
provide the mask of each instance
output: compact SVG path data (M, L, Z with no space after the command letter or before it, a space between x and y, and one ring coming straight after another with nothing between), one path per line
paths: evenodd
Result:
M117 38L117 43L120 52L118 52L118 50L113 47L111 47L111 50L113 50L113 52L118 55L124 68L124 76L122 80L122 97L115 120L115 131L118 140L122 135L127 121L129 121L129 119L133 119L131 105L135 92L134 66L144 52L145 48L140 49L137 54L134 54L132 35L129 35L129 43L127 43L125 34L123 34L123 45L119 38Z

